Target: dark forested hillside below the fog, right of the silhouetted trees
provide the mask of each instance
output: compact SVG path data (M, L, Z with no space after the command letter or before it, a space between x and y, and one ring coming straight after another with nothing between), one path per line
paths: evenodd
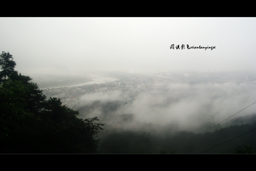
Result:
M165 151L166 154L230 154L236 153L236 149L242 149L246 145L255 148L255 128L256 123L234 125L204 134L179 131L165 138L145 131L116 130L102 138L99 152L159 154L160 151Z

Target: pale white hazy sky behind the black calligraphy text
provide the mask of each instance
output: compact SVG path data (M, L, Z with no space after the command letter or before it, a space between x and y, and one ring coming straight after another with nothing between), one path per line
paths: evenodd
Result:
M0 52L22 74L256 71L255 47L255 17L0 17Z

